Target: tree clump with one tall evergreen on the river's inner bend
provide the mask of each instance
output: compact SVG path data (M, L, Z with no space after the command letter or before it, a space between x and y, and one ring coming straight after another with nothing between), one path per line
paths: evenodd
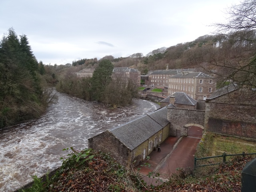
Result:
M132 79L113 74L114 65L101 60L92 77L79 78L76 74L59 78L56 89L85 100L99 101L106 106L126 106L137 94L137 84Z

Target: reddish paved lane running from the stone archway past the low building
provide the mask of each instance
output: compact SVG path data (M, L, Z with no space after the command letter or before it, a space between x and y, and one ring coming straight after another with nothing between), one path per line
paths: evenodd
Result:
M140 166L140 173L147 175L149 172L160 173L162 180L168 179L170 174L175 173L177 168L185 168L187 171L194 167L194 154L202 137L202 129L196 126L188 128L187 137L169 137L161 145L161 152L153 151L150 160L146 160L152 166ZM148 185L161 184L154 178L143 178Z

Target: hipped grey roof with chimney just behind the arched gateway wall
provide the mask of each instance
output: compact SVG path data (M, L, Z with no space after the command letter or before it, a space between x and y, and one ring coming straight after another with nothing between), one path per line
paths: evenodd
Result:
M190 96L188 96L184 92L174 92L172 95L166 97L164 100L160 102L168 103L170 102L170 97L175 97L174 104L193 105L193 106L197 104L196 100L192 99Z

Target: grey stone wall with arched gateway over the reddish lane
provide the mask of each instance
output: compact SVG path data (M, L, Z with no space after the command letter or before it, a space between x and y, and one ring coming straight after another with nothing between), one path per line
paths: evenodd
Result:
M170 121L170 136L176 136L176 130L180 130L182 136L187 135L186 124L203 128L204 110L188 110L181 108L168 108L167 119Z

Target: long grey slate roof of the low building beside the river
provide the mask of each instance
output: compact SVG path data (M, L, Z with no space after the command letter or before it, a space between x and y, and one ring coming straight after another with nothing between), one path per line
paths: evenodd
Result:
M133 150L168 123L167 108L164 107L108 131L127 148Z

